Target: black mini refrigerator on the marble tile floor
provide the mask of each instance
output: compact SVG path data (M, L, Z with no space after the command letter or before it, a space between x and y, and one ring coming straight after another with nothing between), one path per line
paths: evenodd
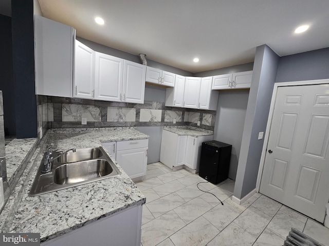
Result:
M202 143L199 176L211 183L227 179L232 146L215 140Z

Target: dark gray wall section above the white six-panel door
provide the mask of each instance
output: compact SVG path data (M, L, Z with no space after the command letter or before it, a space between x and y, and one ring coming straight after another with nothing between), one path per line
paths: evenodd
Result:
M329 78L329 48L280 57L276 82Z

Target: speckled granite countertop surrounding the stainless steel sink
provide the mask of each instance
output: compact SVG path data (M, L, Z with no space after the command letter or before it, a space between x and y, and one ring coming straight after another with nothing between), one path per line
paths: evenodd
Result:
M47 135L43 150L50 143L55 149L69 149L98 147L102 142L109 141L149 138L135 128L50 129ZM40 154L30 169L27 189L6 232L41 233L41 241L46 241L125 208L145 203L145 196L111 158L121 175L30 197L28 192L42 160Z

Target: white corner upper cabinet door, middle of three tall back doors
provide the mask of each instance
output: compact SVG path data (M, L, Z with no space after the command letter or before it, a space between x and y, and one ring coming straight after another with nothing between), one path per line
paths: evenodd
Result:
M184 108L197 109L199 103L201 78L186 77L184 90Z

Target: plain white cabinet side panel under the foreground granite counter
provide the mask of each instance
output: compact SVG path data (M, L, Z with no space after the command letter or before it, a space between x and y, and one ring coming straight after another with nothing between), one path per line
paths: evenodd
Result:
M99 219L41 245L135 245L140 246L142 206Z

